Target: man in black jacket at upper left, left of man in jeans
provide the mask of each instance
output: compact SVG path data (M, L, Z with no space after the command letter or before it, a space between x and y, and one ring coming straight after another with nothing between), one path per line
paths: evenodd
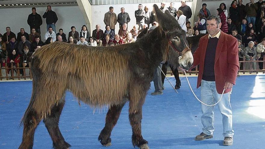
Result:
M35 7L33 7L31 11L32 13L28 16L27 20L30 26L30 31L32 28L35 28L36 32L40 34L40 26L42 25L42 18L39 14L37 14Z

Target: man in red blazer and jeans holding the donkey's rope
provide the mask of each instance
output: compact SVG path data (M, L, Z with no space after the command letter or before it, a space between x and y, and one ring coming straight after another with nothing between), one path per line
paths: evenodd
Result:
M201 37L199 47L195 51L192 68L200 64L197 88L201 86L201 101L205 104L216 103L225 89L218 107L223 116L223 145L233 143L232 108L230 95L239 69L237 39L220 30L220 17L211 15L207 18L209 34ZM203 125L202 133L195 137L196 141L213 138L214 107L201 104Z

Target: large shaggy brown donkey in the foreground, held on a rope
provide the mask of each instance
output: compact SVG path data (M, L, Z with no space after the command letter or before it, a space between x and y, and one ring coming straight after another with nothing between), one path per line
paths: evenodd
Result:
M124 104L129 101L129 121L134 147L148 149L142 137L142 105L150 88L154 70L163 57L168 62L189 69L193 57L187 46L185 31L176 19L154 5L160 23L150 34L135 43L114 47L88 47L52 43L33 54L33 91L21 120L23 138L19 149L31 149L35 129L43 119L55 149L70 148L58 127L68 90L85 104L100 108L108 105L105 126L98 140L111 145L111 131ZM168 51L172 46L176 51ZM55 52L56 51L56 52ZM178 56L182 59L178 64ZM52 67L51 67L52 66Z

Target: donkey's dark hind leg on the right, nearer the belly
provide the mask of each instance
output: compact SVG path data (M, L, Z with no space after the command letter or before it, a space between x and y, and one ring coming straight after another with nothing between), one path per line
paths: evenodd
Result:
M43 120L45 123L46 128L51 136L51 140L53 142L53 148L55 149L67 149L71 147L66 141L64 141L64 137L60 132L58 123L60 119L61 112L64 107L65 103L65 96L61 98L58 105L54 105L51 108L51 114L47 115L46 118Z

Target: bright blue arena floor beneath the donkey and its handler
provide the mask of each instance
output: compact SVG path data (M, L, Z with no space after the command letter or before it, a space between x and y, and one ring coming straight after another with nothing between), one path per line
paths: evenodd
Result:
M233 87L231 104L233 110L232 146L222 146L222 116L215 111L213 139L195 141L201 133L201 104L192 95L186 78L181 77L182 86L176 94L165 80L163 95L151 96L153 82L143 106L142 135L151 149L264 149L265 148L265 76L240 76ZM197 77L189 77L195 93ZM170 78L172 83L174 78ZM173 84L174 85L174 84ZM32 82L0 82L0 149L18 148L23 129L20 119L31 97ZM61 114L60 129L71 149L132 149L132 130L128 119L128 103L123 107L120 119L111 135L112 146L103 147L98 135L104 127L107 108L93 110L85 104L79 107L73 95L67 92L66 104ZM35 149L52 148L52 141L41 122L34 136Z

